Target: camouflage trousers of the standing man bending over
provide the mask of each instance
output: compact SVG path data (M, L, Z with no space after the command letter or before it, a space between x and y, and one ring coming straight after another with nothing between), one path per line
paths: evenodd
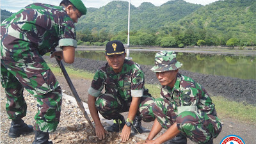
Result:
M60 122L61 88L45 62L15 63L1 60L1 84L6 93L8 118L26 116L27 104L23 90L33 95L37 101L34 129L55 131Z

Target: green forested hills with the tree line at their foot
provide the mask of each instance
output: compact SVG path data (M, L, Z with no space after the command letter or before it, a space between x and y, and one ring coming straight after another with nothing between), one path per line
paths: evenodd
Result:
M78 44L127 44L128 2L111 1L76 24ZM173 0L154 6L131 4L130 45L185 47L188 45L256 45L256 1L219 0L202 6Z

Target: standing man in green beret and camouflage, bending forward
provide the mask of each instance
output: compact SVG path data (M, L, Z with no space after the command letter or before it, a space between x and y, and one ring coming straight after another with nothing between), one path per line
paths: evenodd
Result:
M6 92L6 111L12 119L11 138L33 132L24 123L27 105L23 97L26 88L37 99L35 115L36 143L52 143L49 132L60 122L60 84L42 55L59 45L62 51L52 53L66 63L74 62L76 30L74 23L86 14L81 0L63 0L60 6L29 4L1 24L1 84Z

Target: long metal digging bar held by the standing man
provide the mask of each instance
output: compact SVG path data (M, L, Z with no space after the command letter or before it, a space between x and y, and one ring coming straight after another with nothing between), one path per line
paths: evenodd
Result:
M67 80L67 83L68 83L68 86L70 87L70 90L72 91L73 95L75 96L75 99L76 99L76 102L79 106L79 108L81 109L83 115L84 115L84 118L86 118L87 122L90 124L90 126L92 127L92 131L94 132L95 134L95 129L92 125L92 122L88 116L88 114L86 113L85 109L84 109L84 105L83 105L83 102L81 101L79 95L77 94L76 92L76 88L74 87L72 81L70 80L70 77L68 76L68 73L67 73L67 70L65 69L63 63L59 60L57 60L56 58L56 61L58 62L58 64L60 65L60 68L61 68L61 71L65 77L65 79Z

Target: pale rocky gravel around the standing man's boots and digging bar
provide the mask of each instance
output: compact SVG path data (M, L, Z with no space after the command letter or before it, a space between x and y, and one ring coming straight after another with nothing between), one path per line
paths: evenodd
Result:
M28 104L27 115L23 118L26 124L33 125L36 113L36 99L30 95L26 90L24 91L24 97ZM8 120L5 111L6 98L4 95L4 89L1 87L1 143L10 144L25 144L32 143L34 140L34 134L27 134L20 136L19 138L9 138L8 131L10 129L10 120ZM90 116L90 115L89 115ZM103 122L104 127L108 127L109 124ZM81 110L72 101L63 98L61 108L60 124L55 132L50 134L50 140L54 143L67 144L67 143L109 143L116 144L122 143L119 133L108 132L105 140L98 140L93 134L92 128L87 123ZM126 143L137 143L143 141L143 139L132 136Z

